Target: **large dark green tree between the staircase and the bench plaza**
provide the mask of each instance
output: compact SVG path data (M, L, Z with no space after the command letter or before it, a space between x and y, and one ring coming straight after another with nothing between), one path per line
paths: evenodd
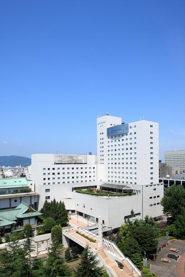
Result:
M146 251L146 253L150 253L156 250L157 247L157 240L154 240L155 233L152 227L149 225L146 226L135 226L133 225L130 228L130 237L137 240L142 253Z

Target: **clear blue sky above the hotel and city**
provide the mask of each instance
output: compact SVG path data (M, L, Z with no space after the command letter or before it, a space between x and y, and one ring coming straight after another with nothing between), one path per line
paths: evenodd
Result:
M185 1L1 1L0 155L96 154L96 118L185 149Z

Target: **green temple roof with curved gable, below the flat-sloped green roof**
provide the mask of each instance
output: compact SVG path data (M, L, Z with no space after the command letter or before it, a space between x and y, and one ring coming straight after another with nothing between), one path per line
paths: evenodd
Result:
M0 211L0 227L16 223L15 220L17 219L28 218L37 215L42 215L42 213L39 213L28 204L21 202L19 206L14 209Z

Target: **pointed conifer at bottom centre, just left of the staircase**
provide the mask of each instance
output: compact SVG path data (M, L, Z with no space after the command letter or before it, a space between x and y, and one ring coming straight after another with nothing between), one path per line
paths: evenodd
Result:
M99 261L96 255L93 255L90 247L87 245L81 254L81 262L76 266L76 276L78 277L99 277L105 272L104 267L98 267Z

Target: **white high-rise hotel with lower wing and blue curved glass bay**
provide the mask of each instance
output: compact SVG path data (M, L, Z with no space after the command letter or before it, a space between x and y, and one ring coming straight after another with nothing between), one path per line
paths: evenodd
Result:
M158 183L158 123L141 120L122 123L121 118L97 118L97 156L33 154L31 179L44 201L64 201L67 210L97 221L106 231L120 227L130 216L162 215L163 183ZM130 190L131 196L94 196L75 192L88 187Z

